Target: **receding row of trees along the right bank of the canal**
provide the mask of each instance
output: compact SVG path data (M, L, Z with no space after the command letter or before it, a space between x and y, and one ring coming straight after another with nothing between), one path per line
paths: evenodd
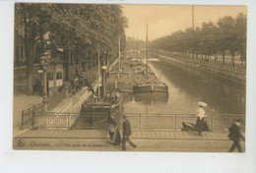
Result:
M213 22L203 23L201 28L178 30L171 35L160 37L151 42L151 47L176 52L179 56L208 59L222 54L223 64L225 52L231 55L234 66L234 55L239 54L240 60L246 61L246 23L247 18L238 14L236 18L226 16L217 25Z

